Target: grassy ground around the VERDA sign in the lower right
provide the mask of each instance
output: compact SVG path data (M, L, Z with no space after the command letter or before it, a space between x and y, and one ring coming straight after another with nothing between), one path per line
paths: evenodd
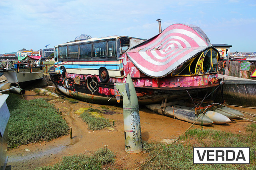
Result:
M256 169L256 124L247 128L247 133L226 133L215 130L189 130L180 141L173 145L162 143L144 143L143 150L153 160L143 168L145 170L224 170ZM193 164L193 147L250 147L250 164Z

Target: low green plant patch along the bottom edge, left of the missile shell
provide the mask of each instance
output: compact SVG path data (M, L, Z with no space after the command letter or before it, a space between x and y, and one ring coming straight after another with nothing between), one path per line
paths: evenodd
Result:
M91 156L80 154L64 156L62 161L54 166L36 168L36 170L101 170L102 165L114 163L114 152L106 148L100 148Z

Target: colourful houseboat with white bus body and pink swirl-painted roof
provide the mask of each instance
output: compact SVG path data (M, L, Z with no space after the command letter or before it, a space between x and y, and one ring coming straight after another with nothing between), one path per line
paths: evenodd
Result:
M219 86L218 51L197 26L174 24L150 39L110 36L55 47L50 77L64 94L108 104L130 74L140 104L204 98ZM114 98L110 101L115 100Z

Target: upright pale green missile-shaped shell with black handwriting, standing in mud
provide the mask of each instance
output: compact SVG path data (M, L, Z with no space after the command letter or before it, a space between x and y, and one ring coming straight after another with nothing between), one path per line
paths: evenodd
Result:
M142 151L139 104L130 74L126 83L116 84L116 89L123 96L125 151L139 153Z

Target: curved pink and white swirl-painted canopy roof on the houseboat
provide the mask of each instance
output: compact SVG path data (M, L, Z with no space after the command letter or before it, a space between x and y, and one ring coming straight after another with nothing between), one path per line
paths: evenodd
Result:
M133 47L126 54L144 74L164 77L210 46L206 34L195 25L174 24Z

